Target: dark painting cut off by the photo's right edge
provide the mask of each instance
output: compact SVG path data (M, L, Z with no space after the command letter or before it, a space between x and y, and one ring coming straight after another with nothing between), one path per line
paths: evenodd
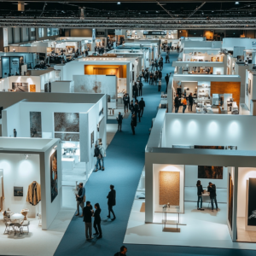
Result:
M247 225L256 226L256 204L255 204L255 195L256 195L256 178L249 178L248 182L248 216L247 216Z

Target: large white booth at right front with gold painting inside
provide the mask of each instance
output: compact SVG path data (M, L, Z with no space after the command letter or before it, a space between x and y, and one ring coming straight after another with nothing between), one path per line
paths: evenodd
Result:
M134 201L124 242L255 249L254 124L252 116L160 109L145 152L144 199ZM198 180L204 211L197 207Z

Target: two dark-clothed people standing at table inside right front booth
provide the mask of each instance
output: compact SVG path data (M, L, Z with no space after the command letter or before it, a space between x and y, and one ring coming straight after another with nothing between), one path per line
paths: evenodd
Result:
M204 189L201 185L201 181L198 180L196 183L196 188L197 188L197 210L204 211L202 208L202 194L204 194ZM216 194L216 186L213 183L209 183L207 187L207 192L210 193L210 200L211 200L211 205L212 205L212 212L213 212L213 203L215 203L216 211L218 211L218 203L217 203L217 194ZM200 207L199 207L199 202Z

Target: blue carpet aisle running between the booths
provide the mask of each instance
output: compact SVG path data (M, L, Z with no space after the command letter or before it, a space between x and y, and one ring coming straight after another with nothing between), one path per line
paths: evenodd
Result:
M171 64L164 64L162 91L166 90L166 73L173 73L172 61L177 59L173 54ZM113 255L123 245L125 230L131 212L132 203L137 190L139 178L144 166L145 146L148 142L148 129L151 127L151 120L155 117L157 106L160 103L160 92L157 86L143 83L143 98L146 108L142 122L137 124L136 135L131 132L131 118L123 120L123 132L117 132L113 141L108 146L105 159L105 172L94 172L86 183L86 200L94 205L96 202L102 207L102 236L92 241L85 241L84 223L82 218L73 217L65 235L63 236L55 256L69 255ZM139 97L140 99L140 97ZM111 123L113 123L111 121ZM113 184L116 189L117 199L113 211L116 220L108 220L107 195L109 185ZM74 209L75 211L75 209ZM75 213L75 212L74 212ZM196 232L196 230L195 230ZM93 230L94 233L94 230ZM203 236L203 234L202 234ZM253 255L253 252L236 250L220 250L201 247L171 247L171 246L146 246L127 245L127 255Z

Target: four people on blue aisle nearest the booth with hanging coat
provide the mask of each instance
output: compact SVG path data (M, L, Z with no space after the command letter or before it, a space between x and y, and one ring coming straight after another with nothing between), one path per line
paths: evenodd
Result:
M79 207L82 209L82 215L80 217L83 217L83 221L85 224L85 237L86 240L93 239L92 236L92 218L94 218L93 227L95 229L94 236L97 236L96 238L102 238L102 218L101 218L101 212L102 209L100 207L99 203L96 203L94 205L95 211L93 210L93 207L90 204L90 201L86 201L86 206L84 207L84 201L86 199L85 196L85 188L83 186L83 183L79 183L79 190L78 194L76 195L77 200L77 214L76 216L79 216ZM114 189L113 185L110 185L110 191L107 196L108 199L108 218L111 218L110 214L113 214L112 221L115 220L115 214L113 212L113 206L116 204L116 191Z

